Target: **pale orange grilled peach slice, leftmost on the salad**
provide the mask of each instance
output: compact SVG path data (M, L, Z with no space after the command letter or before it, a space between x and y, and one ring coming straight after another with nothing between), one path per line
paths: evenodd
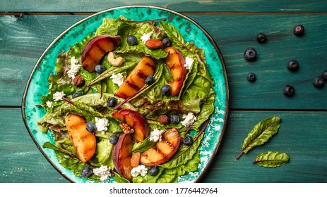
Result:
M69 137L78 158L82 163L86 163L92 158L97 147L95 134L86 130L86 121L79 115L68 115L65 117L65 121Z

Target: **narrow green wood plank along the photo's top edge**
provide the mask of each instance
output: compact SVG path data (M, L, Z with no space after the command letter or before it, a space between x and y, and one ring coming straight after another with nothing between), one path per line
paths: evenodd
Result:
M212 12L212 11L237 11L237 12L326 12L325 1L189 1L189 0L166 0L166 1L41 1L41 0L12 0L1 4L2 12L97 12L116 6L149 5L170 8L179 12Z

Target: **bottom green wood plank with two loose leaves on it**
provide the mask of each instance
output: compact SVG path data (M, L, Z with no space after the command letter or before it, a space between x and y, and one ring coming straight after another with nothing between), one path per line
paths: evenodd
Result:
M67 182L28 134L18 108L0 108L0 182ZM278 134L239 160L235 158L254 125L271 115L282 118ZM327 182L327 113L231 111L218 154L201 182ZM11 122L10 124L8 122ZM290 155L276 168L252 161L265 151Z

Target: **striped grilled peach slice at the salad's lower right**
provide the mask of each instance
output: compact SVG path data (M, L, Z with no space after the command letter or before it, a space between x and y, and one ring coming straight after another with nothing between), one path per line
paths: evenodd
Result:
M167 162L177 152L181 142L177 129L172 128L162 134L162 140L141 154L143 165L154 166Z

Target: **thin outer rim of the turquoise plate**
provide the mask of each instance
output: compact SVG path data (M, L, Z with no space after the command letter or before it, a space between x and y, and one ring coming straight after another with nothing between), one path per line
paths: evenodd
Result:
M229 89L229 81L228 81L228 78L227 78L227 69L226 69L225 60L224 60L224 58L222 56L222 53L220 52L220 49L218 48L218 45L216 44L213 37L211 37L210 34L200 24L198 24L195 20L189 18L188 16L186 16L186 15L184 15L182 13L179 13L177 11L173 11L173 10L171 10L169 8L163 8L163 7L160 7L160 6L147 6L147 5L115 6L115 7L112 7L112 8L107 8L107 9L104 9L102 11L90 14L90 15L86 16L85 18L82 18L81 20L78 20L76 23L73 23L71 26L66 28L66 30L64 30L59 35L57 35L57 37L52 42L50 42L50 44L47 46L47 48L44 49L43 53L37 59L37 62L35 63L32 71L30 72L30 77L28 77L28 81L26 82L25 89L24 89L24 92L23 92L22 104L21 104L21 106L22 106L21 107L21 113L22 113L23 122L25 124L25 127L26 127L26 129L28 129L28 133L30 134L32 140L34 141L35 145L37 146L39 151L42 153L44 158L47 159L47 161L52 165L52 167L54 167L55 170L57 170L57 172L59 172L59 174L61 174L61 176L63 176L69 182L73 183L73 180L70 177L68 177L66 174L64 174L59 169L59 167L57 167L57 165L54 165L54 163L52 163L52 160L49 158L49 156L46 153L44 153L44 151L42 150L42 147L40 146L40 144L38 144L38 142L36 141L35 137L32 134L32 131L30 130L30 127L28 126L28 121L26 119L26 113L25 113L25 108L26 108L25 103L26 103L26 97L27 97L27 94L28 94L28 89L30 87L30 82L32 81L32 76L35 73L35 70L37 70L37 66L40 65L40 63L42 62L42 60L43 60L44 56L46 55L47 51L49 51L49 49L51 49L51 47L54 46L54 44L56 44L58 42L58 40L61 39L64 36L64 34L66 34L71 29L73 29L73 27L76 27L77 25L80 25L85 20L93 18L95 15L101 15L102 13L107 13L109 11L114 11L114 10L117 10L117 9L120 9L120 8L155 8L155 9L159 9L159 10L162 10L162 11L167 11L169 13L173 13L174 15L178 15L181 18L189 20L191 23L196 25L196 27L198 27L206 35L208 41L213 45L213 47L215 48L215 51L218 53L220 63L222 65L224 80L225 80L225 94L226 94L226 96L225 96L225 113L224 113L224 118L223 118L224 121L222 122L222 129L221 129L220 138L219 138L219 141L217 142L217 144L215 145L213 155L210 157L210 160L208 161L206 167L203 168L203 171L201 172L200 176L198 176L198 178L194 180L194 182L200 182L200 180L203 178L203 176L205 174L207 174L207 171L208 171L209 167L212 165L213 160L217 156L218 149L220 148L220 144L221 144L223 136L225 135L225 129L227 127L227 119L228 119L229 108L230 108L230 89Z

